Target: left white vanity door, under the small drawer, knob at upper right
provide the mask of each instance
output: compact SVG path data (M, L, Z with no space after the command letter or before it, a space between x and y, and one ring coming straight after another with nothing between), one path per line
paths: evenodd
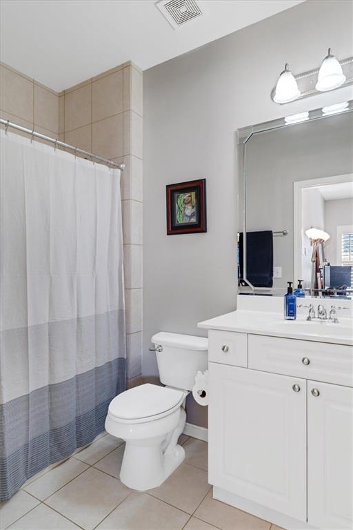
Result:
M210 483L306 521L306 381L209 370Z

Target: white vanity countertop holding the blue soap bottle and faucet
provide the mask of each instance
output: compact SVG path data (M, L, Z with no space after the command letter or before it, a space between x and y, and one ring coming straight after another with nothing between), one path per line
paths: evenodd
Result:
M296 320L284 320L282 313L237 310L200 322L199 328L238 331L255 335L271 335L290 339L330 342L353 346L353 320L342 318L339 323L313 320L307 322L306 314Z

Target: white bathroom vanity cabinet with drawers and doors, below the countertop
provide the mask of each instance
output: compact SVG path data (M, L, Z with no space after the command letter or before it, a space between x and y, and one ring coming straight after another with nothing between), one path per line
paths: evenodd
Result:
M216 498L289 529L352 529L352 347L231 335L209 344Z

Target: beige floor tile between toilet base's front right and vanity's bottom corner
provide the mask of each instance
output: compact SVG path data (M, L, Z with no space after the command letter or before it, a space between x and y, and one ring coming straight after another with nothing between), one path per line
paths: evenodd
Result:
M210 489L203 469L181 464L158 488L148 493L188 513L193 513Z

